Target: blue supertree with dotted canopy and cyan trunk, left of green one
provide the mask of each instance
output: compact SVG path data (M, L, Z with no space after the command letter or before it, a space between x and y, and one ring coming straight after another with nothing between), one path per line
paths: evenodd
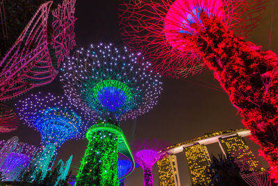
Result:
M42 138L40 149L28 166L34 170L33 177L40 170L45 176L54 163L58 148L69 139L82 138L87 130L86 123L93 122L92 114L83 112L81 119L76 114L79 109L72 107L67 98L51 93L31 94L19 100L16 106L19 118L38 130Z

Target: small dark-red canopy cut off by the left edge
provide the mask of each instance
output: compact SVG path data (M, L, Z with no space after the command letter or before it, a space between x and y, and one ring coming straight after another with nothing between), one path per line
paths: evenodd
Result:
M6 104L0 102L0 132L6 133L16 130L19 126L19 118L15 111Z

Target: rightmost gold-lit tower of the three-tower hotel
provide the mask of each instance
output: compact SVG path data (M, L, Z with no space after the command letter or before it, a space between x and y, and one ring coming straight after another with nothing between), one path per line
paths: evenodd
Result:
M251 149L245 143L243 137L239 137L238 134L233 134L227 137L219 138L220 147L224 155L235 155L240 159L247 160L250 164L250 171L263 171L259 164L259 160L252 153Z

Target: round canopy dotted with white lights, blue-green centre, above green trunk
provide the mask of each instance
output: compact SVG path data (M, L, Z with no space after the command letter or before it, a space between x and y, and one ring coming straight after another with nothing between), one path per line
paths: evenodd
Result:
M149 65L126 47L90 45L63 63L61 82L74 104L95 110L103 121L135 118L152 109L161 93L161 77Z

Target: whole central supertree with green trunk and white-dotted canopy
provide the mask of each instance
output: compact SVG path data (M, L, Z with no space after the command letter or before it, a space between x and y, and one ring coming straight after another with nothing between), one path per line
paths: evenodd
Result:
M65 94L74 104L99 116L99 123L86 134L89 144L76 185L117 185L118 152L132 162L122 178L133 171L133 156L118 123L146 113L157 103L162 83L148 68L139 53L102 44L81 49L63 63Z

